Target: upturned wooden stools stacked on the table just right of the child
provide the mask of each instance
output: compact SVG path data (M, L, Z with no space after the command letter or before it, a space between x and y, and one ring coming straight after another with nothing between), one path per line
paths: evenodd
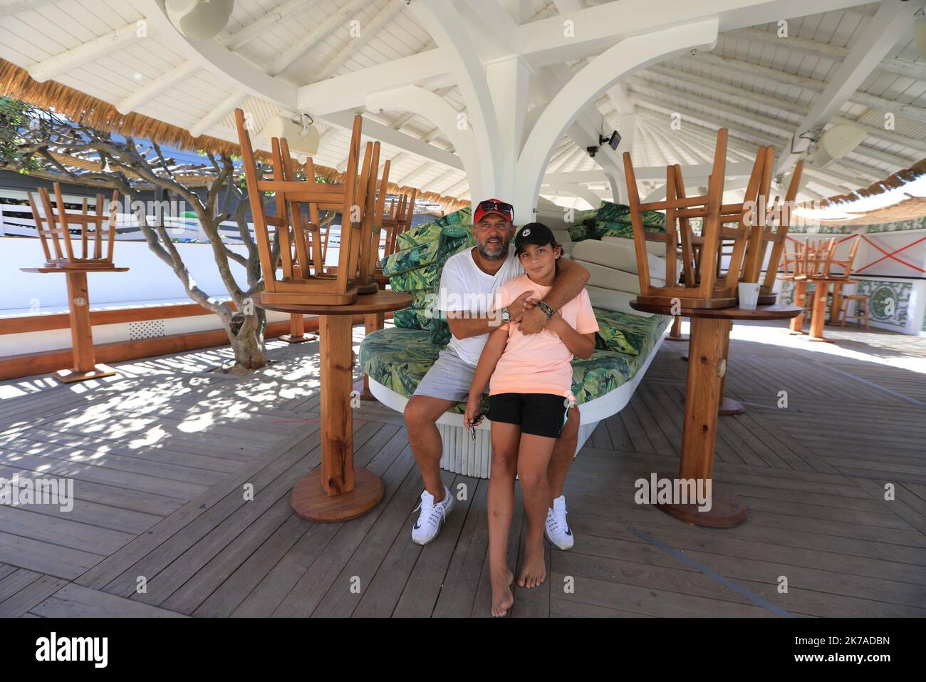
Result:
M718 309L731 308L738 299L738 285L741 281L757 282L755 268L744 270L747 246L751 239L757 240L753 247L753 260L761 250L764 240L772 241L773 235L766 234L765 225L754 228L751 224L756 208L766 205L771 177L771 147L759 150L742 202L723 204L723 183L726 171L727 130L721 128L717 134L714 162L707 183L707 195L685 196L682 168L678 164L666 169L666 199L642 203L637 191L636 176L629 153L624 153L624 170L627 177L633 243L636 249L640 276L640 296L643 304L670 305L678 299L682 308ZM645 210L666 211L666 232L649 233L644 230ZM694 221L700 221L700 234L694 232ZM661 242L666 246L665 285L653 284L650 280L645 242ZM729 263L723 271L724 249L729 253ZM677 257L682 258L681 279L676 272ZM759 261L761 267L761 261ZM660 274L657 280L662 279ZM756 279L745 279L755 277ZM675 284L678 282L679 284Z

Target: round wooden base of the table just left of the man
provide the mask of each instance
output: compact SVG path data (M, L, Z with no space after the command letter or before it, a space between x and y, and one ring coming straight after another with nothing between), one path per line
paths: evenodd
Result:
M330 496L321 485L321 472L304 476L290 493L296 515L319 524L334 524L363 516L382 499L382 481L366 469L354 470L354 489Z

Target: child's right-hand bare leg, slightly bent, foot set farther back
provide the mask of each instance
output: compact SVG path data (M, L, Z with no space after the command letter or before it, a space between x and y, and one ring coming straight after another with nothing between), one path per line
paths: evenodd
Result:
M544 524L550 505L550 486L546 472L555 443L555 438L547 436L522 433L520 438L518 478L527 521L524 563L518 574L520 587L537 587L546 578Z

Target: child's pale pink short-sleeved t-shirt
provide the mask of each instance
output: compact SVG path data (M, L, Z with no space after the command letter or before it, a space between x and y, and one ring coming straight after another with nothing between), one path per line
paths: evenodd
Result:
M506 308L525 291L543 298L549 286L534 284L526 274L502 284L498 289L497 309ZM592 302L582 289L579 296L559 310L563 320L579 334L598 331ZM489 395L497 393L550 393L570 396L572 388L572 353L556 332L544 329L540 334L523 335L518 324L503 324L508 331L505 352L495 365L489 381Z

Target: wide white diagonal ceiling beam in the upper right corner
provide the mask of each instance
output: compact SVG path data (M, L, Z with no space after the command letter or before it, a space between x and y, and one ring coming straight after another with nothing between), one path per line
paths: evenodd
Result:
M807 150L809 140L802 135L820 129L839 113L845 101L855 93L872 69L881 63L900 37L916 20L918 7L911 3L883 2L862 34L849 50L845 59L832 75L831 82L815 99L810 111L798 122L791 147L775 166L775 173L791 170L802 152Z

